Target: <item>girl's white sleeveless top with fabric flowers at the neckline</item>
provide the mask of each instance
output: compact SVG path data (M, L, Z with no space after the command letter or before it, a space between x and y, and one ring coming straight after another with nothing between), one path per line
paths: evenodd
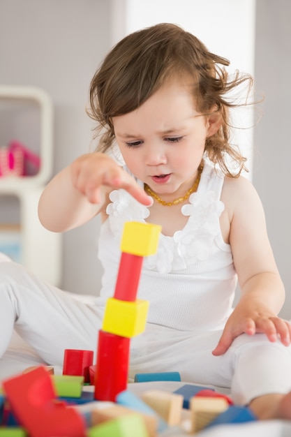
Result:
M222 173L205 163L197 193L181 207L188 222L172 237L162 234L156 255L144 258L138 297L150 302L148 323L185 331L215 330L230 316L237 275L219 224L222 186ZM104 299L114 292L124 222L144 222L148 217L150 221L150 208L126 191L113 191L110 200L99 241Z

